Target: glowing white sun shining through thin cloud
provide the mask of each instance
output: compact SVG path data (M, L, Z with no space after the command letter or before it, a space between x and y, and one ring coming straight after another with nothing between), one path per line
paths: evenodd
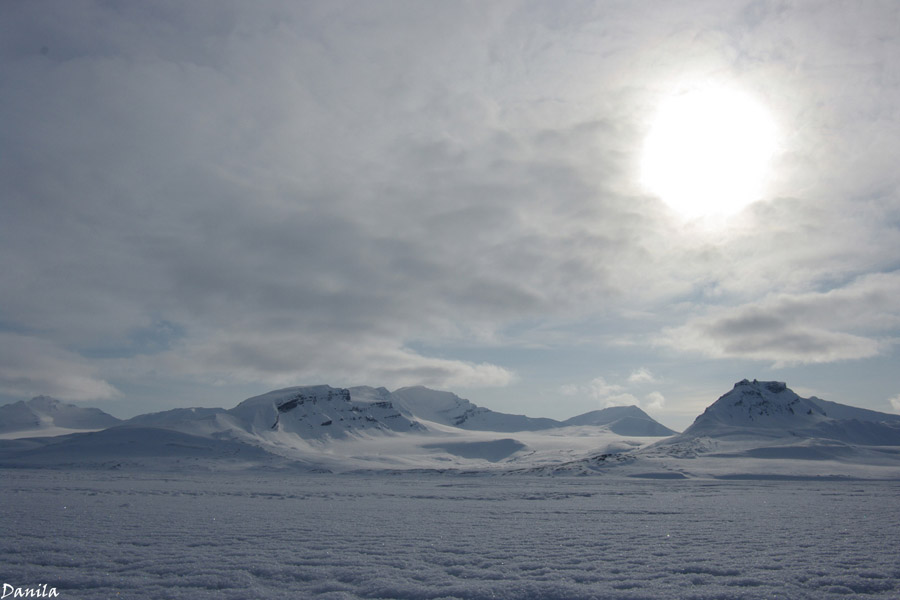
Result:
M674 94L647 135L641 181L685 219L733 215L762 196L775 137L772 117L747 94Z

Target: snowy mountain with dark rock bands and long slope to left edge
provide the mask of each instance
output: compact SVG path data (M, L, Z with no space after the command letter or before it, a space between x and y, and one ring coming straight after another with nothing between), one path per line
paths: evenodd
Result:
M152 469L340 468L332 442L425 432L387 390L307 386L249 398L230 410L179 408L139 415L93 433L0 441L0 463ZM350 462L350 461L347 461Z

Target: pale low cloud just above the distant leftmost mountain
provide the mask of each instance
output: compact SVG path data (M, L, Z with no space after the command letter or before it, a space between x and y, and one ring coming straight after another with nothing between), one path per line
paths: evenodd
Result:
M81 356L26 335L0 333L0 392L30 398L106 400L119 395Z

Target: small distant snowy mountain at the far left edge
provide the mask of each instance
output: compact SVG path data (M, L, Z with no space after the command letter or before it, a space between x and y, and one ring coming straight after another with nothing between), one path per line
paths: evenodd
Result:
M98 408L66 404L50 396L36 396L0 406L0 434L59 435L78 430L112 427L119 419Z

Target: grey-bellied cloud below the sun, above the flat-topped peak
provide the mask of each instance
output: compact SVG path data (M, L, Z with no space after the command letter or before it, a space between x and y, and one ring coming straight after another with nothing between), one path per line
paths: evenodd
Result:
M772 294L716 308L668 328L659 343L714 358L770 361L774 366L829 363L885 352L900 327L900 272L859 277L841 288Z

